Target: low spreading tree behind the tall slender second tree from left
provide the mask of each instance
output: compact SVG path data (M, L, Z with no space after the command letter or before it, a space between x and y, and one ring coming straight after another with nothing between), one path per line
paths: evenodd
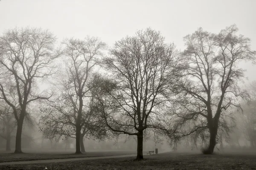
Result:
M78 100L77 98L76 102ZM82 153L85 153L85 136L96 139L106 136L106 130L101 123L101 117L96 113L94 107L93 98L90 98L90 103L84 101L80 131L80 147ZM42 105L41 112L44 115L39 120L40 130L46 138L53 139L56 135L59 135L65 138L76 139L76 112L74 111L70 97L65 96L58 98L55 102L47 102L46 105Z

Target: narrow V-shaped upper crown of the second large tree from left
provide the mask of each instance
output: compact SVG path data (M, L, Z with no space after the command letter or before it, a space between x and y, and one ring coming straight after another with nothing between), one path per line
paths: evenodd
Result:
M67 57L65 63L74 90L77 95L83 91L80 95L84 96L88 90L85 85L89 73L93 71L95 65L100 64L106 44L96 37L87 37L84 40L65 39L62 43L65 45L64 55Z

